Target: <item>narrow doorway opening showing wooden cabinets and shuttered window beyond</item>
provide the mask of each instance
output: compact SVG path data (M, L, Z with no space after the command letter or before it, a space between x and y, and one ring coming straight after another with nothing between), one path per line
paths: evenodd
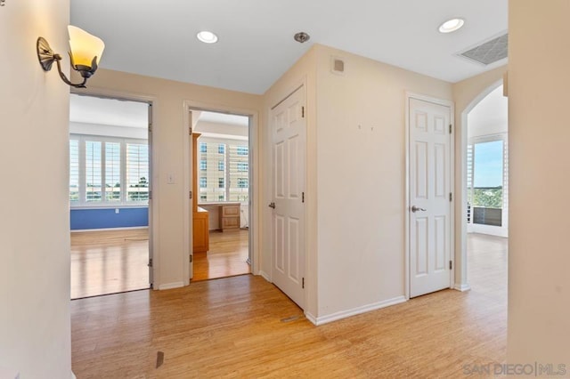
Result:
M251 272L250 124L250 116L191 109L191 281Z

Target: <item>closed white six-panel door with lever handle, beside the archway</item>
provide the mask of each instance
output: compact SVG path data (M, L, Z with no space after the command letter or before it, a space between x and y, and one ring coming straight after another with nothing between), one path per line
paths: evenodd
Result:
M451 108L410 98L410 297L451 286Z

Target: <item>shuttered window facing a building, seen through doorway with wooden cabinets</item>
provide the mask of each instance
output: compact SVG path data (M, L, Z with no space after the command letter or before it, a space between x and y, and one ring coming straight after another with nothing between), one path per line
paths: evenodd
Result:
M199 180L199 201L248 202L248 142L200 137L199 143L207 145L206 152L199 153L204 178Z

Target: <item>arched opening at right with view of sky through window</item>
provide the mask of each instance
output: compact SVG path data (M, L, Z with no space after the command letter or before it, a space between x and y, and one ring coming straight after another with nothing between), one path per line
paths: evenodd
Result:
M471 289L507 298L508 98L497 85L467 115L467 275ZM494 278L490 280L490 278Z

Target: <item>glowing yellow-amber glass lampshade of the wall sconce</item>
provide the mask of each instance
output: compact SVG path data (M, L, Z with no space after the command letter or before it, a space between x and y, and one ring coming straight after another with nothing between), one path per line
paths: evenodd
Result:
M93 61L95 60L95 68L99 65L99 60L105 48L101 38L90 35L81 28L68 26L69 32L69 55L71 56L71 64L75 69L80 66L94 69Z

